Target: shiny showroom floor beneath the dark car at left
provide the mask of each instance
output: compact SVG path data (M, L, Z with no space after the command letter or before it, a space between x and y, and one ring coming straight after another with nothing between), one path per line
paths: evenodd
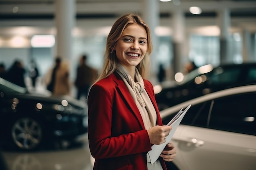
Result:
M64 144L65 146L65 144ZM34 152L3 150L8 170L92 170L88 141Z

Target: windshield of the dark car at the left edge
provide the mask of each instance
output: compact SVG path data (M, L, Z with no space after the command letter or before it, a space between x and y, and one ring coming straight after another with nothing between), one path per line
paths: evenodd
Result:
M5 93L27 93L27 88L20 87L0 77L0 90Z

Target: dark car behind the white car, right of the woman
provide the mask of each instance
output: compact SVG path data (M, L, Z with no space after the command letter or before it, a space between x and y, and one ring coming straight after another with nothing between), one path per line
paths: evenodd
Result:
M184 76L180 83L159 84L155 97L159 110L180 104L189 99L226 88L256 83L256 63L201 66Z

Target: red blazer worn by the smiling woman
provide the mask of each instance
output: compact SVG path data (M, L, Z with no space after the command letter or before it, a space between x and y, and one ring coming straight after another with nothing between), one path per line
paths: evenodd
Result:
M162 125L152 84L144 85ZM112 73L92 86L88 96L88 138L94 170L147 170L146 153L151 150L132 96L117 73ZM167 170L161 158L164 170Z

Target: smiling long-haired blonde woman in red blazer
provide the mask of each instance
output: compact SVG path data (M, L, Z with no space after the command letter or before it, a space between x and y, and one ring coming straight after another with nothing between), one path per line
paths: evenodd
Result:
M119 18L107 38L105 61L88 96L88 138L94 170L166 170L176 155L168 143L151 165L148 151L162 144L162 126L152 84L146 80L152 42L138 15Z

